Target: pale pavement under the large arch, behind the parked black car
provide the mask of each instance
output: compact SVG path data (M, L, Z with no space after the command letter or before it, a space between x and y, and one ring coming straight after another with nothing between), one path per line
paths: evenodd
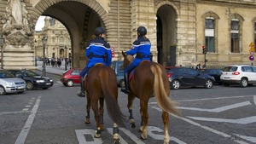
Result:
M43 61L37 61L38 64L38 71L43 71ZM67 70L70 69L70 66L67 66ZM61 62L60 67L53 67L53 66L45 66L45 72L60 75L65 71L65 62Z

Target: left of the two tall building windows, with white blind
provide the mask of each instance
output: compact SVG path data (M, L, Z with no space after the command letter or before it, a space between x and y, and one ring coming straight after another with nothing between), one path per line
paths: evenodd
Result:
M207 52L215 52L215 20L212 17L205 19L205 39Z

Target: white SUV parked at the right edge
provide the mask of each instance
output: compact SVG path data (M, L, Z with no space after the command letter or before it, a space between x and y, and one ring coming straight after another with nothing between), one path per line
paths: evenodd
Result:
M242 88L256 84L256 66L230 65L222 69L220 81L224 86L240 84Z

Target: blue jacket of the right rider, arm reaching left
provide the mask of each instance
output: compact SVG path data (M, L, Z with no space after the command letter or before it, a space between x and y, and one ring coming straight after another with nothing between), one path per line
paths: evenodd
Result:
M132 61L132 64L134 66L138 66L142 60L150 60L149 58L150 48L151 48L151 43L149 39L144 38L143 36L138 36L137 40L133 42L131 46L131 50L126 51L125 53L127 55L136 55L137 53L144 55L143 58L138 58L136 56L135 59Z

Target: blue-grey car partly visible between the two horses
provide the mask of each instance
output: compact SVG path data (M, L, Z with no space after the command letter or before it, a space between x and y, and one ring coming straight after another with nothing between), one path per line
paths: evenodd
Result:
M119 87L124 88L125 87L124 62L123 61L112 61L111 67L113 68L113 70L116 74L117 84L119 84Z

